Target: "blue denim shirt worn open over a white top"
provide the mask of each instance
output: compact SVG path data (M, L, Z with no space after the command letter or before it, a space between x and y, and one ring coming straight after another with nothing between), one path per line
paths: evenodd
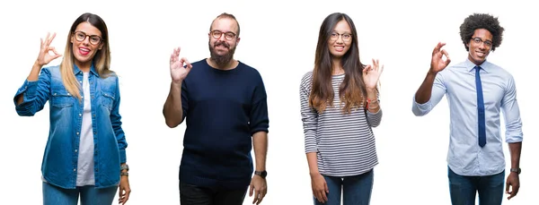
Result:
M128 147L119 115L118 76L111 73L103 79L93 65L90 70L90 96L85 97L82 89L80 92L84 98L92 98L95 187L110 187L119 184L119 166L126 162ZM74 73L82 88L83 72L74 65ZM21 94L23 102L17 106ZM49 184L74 189L84 100L67 92L58 65L42 68L38 81L24 81L13 100L22 116L35 115L49 100L49 140L41 174Z

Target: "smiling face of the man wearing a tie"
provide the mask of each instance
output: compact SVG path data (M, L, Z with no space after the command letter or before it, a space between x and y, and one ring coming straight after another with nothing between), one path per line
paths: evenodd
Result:
M473 64L482 64L490 54L492 48L492 34L489 30L478 29L473 32L473 36L466 44L468 49L468 59Z

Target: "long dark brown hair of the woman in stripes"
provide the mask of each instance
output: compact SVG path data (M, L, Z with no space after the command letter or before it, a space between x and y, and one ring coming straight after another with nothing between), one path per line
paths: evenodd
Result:
M347 21L352 30L352 41L349 51L340 59L340 64L344 70L344 81L340 84L339 94L340 102L344 102L342 108L345 113L350 113L352 108L365 105L367 89L363 81L363 68L359 60L358 32L354 22L345 13L331 13L327 16L320 27L318 35L318 45L314 58L313 71L313 89L309 97L309 106L314 107L319 113L322 113L326 107L333 106L333 88L331 86L331 70L333 61L331 60L328 40L331 38L331 32L339 21Z

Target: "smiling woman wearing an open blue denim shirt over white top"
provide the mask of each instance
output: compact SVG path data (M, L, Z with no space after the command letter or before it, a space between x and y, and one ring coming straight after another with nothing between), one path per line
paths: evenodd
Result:
M56 34L41 38L40 54L14 97L17 114L32 116L49 100L50 130L41 165L43 204L119 203L130 188L128 144L119 115L118 76L110 71L109 35L98 15L75 20L62 63L50 47ZM51 54L52 53L52 54ZM41 68L43 67L43 68Z

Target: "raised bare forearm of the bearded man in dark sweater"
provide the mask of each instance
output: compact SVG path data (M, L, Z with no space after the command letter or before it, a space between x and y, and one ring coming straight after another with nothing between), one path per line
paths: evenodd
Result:
M181 124L183 110L181 107L181 82L171 83L171 90L163 106L163 115L166 125L176 127Z

